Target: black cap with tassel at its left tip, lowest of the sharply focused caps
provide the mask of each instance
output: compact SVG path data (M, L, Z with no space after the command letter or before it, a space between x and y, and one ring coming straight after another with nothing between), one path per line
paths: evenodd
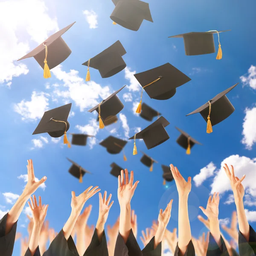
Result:
M148 125L147 128L131 137L129 140L134 139L133 154L137 154L136 140L138 139L143 139L148 149L154 148L168 140L169 135L167 134L165 127L169 124L170 123L161 116L151 125Z

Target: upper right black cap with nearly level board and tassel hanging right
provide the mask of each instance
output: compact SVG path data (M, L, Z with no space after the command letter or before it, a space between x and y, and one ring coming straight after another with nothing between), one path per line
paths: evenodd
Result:
M192 55L202 55L202 54L209 54L215 52L215 45L214 45L214 34L218 34L218 54L216 59L220 60L222 58L222 50L221 50L221 43L220 43L220 36L219 33L226 32L230 30L224 31L217 31L217 30L210 30L207 32L190 32L180 35L173 35L169 36L169 38L183 38L184 46L185 46L185 54L192 56Z

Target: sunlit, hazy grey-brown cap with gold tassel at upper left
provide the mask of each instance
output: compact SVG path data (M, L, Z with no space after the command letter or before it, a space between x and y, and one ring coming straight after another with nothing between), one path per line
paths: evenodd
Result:
M50 78L50 70L61 64L71 53L70 48L61 38L76 22L73 22L64 29L51 35L44 43L33 49L31 52L18 59L34 57L38 64L44 69L44 78Z

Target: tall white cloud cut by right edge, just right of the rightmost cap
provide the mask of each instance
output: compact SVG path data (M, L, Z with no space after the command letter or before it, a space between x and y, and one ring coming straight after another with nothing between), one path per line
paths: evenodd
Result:
M241 142L246 145L247 149L252 149L253 144L256 143L256 107L246 108L244 112L243 139Z

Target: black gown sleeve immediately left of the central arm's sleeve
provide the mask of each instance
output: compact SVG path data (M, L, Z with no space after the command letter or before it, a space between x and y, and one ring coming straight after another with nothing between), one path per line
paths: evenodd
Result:
M103 230L102 241L99 241L96 229L94 230L92 241L90 242L84 256L108 256L107 239Z

